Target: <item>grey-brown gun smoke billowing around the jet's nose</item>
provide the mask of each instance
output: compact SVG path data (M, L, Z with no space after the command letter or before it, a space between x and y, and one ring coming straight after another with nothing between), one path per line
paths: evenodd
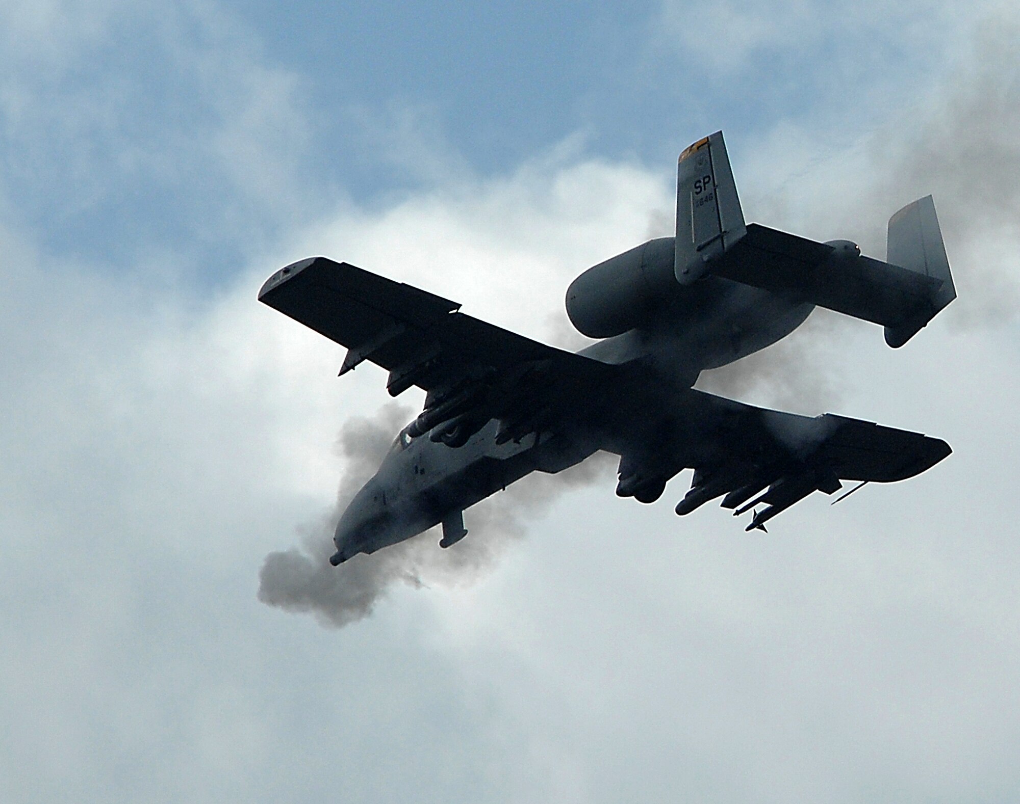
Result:
M564 490L608 478L612 471L612 457L597 454L558 475L533 473L468 508L468 536L445 550L438 546L439 529L434 528L371 555L359 553L340 567L330 566L334 529L341 513L374 474L393 438L411 418L409 409L390 404L371 418L354 417L344 424L337 439L345 461L337 505L299 530L297 546L265 557L259 573L259 600L288 611L310 612L323 625L342 628L370 614L396 584L452 587L471 583L523 535L525 519L540 515Z

